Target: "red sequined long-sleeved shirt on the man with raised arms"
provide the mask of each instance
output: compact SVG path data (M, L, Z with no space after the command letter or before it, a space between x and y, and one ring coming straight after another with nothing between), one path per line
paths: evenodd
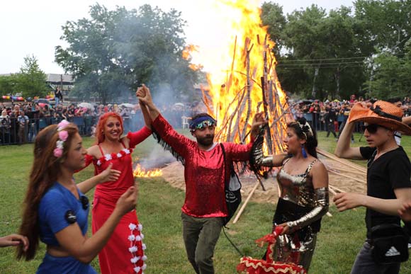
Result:
M223 143L226 154L224 162L220 145L215 144L208 151L199 149L195 140L176 132L162 115L152 122L152 127L175 152L184 158L186 200L181 210L193 217L227 216L225 176L230 176L232 161L249 159L252 142L247 145Z

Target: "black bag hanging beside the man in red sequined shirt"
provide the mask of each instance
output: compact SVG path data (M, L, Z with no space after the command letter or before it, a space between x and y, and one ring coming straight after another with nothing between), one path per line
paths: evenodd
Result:
M220 143L221 149L223 150L223 159L224 163L226 164L227 162L225 161L225 149L223 144ZM225 172L224 172L225 173ZM235 173L234 170L234 165L231 164L230 166L230 178L225 178L225 203L227 205L227 212L228 215L227 217L224 218L224 226L230 222L230 219L232 216L234 216L235 211L237 208L240 206L241 203L241 183L240 179L237 176L237 173Z

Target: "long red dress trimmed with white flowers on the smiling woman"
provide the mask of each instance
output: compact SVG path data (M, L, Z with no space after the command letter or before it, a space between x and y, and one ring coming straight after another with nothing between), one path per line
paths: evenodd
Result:
M151 135L151 130L143 127L138 132L129 132L130 147L123 144L123 149L118 153L105 154L100 159L86 156L86 164L94 164L94 173L98 174L107 169L108 164L113 163L112 169L121 171L118 181L98 184L94 192L92 210L93 234L103 226L104 222L116 207L116 202L125 190L134 185L133 160L131 154L134 147ZM101 147L100 151L103 154ZM98 253L101 274L142 274L145 270L142 224L138 222L135 210L124 215L117 225L108 243Z

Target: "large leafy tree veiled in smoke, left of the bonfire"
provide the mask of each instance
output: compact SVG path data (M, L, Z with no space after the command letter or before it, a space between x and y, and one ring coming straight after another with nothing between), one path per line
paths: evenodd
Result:
M193 89L197 74L181 57L185 22L181 13L150 5L138 11L91 6L91 18L63 26L69 47L56 47L56 62L74 75L73 93L126 101L137 86L149 84L154 96L166 83L170 93Z

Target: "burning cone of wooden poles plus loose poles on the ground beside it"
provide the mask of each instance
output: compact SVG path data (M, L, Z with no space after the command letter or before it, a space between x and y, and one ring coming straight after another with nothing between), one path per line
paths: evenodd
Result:
M217 91L218 94L214 94L214 96L209 96L203 90L203 102L208 108L208 113L218 120L215 138L220 142L244 143L249 135L252 116L255 113L264 111L266 120L269 121L269 130L266 130L264 136L264 151L266 154L278 154L286 149L283 139L286 136L287 123L293 120L291 113L293 105L288 104L288 97L281 89L276 74L276 59L272 48L267 42L267 37L261 40L257 35L257 45L254 47L254 50L260 54L260 62L263 64L262 72L261 69L259 71L257 66L252 67L252 62L250 62L253 47L252 40L246 38L242 56L238 58L235 55L235 52L237 52L237 38L235 39L232 64L226 72L225 84L220 86L220 90ZM243 64L242 71L238 69L238 66L235 66L238 59ZM242 86L241 83L243 83ZM212 85L210 84L210 86ZM227 96L229 94L232 94L232 96ZM218 98L218 100L215 101L215 98ZM339 163L340 169L329 168L330 173L340 175L343 178L344 176L347 177L349 175L344 175L344 167L357 173L364 172L364 168L361 166L338 159L332 154L322 150L319 150L319 154ZM257 179L259 182L252 188L233 223L237 222L258 185L260 184L264 189L264 185L261 184L258 176ZM356 181L365 183L365 178L357 178ZM336 186L331 186L330 191L333 194L344 192Z

